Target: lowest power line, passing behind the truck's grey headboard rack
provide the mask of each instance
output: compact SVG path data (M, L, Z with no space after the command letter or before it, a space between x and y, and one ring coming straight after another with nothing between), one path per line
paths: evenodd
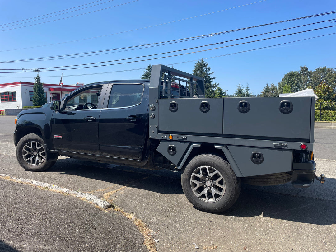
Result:
M281 44L270 45L270 46L264 46L264 47L259 47L259 48L250 49L250 50L245 50L245 51L240 51L240 52L227 53L227 54L217 55L217 56L213 56L213 57L207 57L207 58L204 58L204 57L203 57L203 59L212 59L212 58L218 58L218 57L223 57L223 56L229 56L229 55L234 55L234 54L239 54L239 53L244 53L244 52L251 52L251 51L256 51L256 50L260 50L260 49L266 49L266 48L276 47L276 46L280 46L280 45L285 45L285 44L289 44L289 43L294 43L294 42L304 41L304 40L308 40L308 39L320 38L320 37L329 36L329 35L334 35L334 34L336 34L336 33L329 33L329 34L325 34L325 35L320 35L320 36L315 36L315 37L310 37L310 38L305 38L305 39L299 39L299 40L294 40L294 41L285 42L285 43L281 43ZM183 62L175 62L175 63L172 63L172 64L165 64L165 65L167 65L167 66L178 65L178 64L184 64L184 63L194 62L194 61L198 61L198 60L200 60L200 59L188 60L188 61L183 61ZM146 68L128 69L128 70L120 70L120 71L112 71L112 72L103 72L103 73L77 74L77 75L64 75L64 77L87 76L87 75L97 75L97 74L110 74L110 73L120 73L120 72L128 72L128 71L136 71L136 70L144 70L144 69L146 69ZM52 70L52 71L58 71L58 70ZM1 78L34 78L34 77L23 77L23 76L0 76L0 77L1 77ZM59 75L57 75L57 76L43 76L43 78L55 78L55 77L59 77Z

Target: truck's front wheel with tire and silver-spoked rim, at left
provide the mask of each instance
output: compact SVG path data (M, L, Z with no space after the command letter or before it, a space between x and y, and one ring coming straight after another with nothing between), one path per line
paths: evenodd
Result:
M47 162L43 139L36 134L28 134L16 145L16 159L27 171L44 171L56 161Z

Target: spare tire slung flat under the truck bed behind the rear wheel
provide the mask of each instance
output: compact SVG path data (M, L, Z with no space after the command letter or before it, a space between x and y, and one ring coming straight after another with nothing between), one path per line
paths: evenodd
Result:
M286 172L242 178L242 183L249 185L279 185L290 181L292 181L292 175Z

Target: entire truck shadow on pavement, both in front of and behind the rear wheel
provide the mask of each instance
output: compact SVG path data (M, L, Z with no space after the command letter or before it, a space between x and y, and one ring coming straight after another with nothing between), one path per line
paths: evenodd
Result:
M168 170L153 171L63 159L63 161L57 161L47 172L97 179L160 194L183 194L181 174ZM328 183L335 184L336 179L328 178ZM280 189L280 186L278 187ZM241 195L235 205L220 215L253 217L262 214L263 217L317 225L336 223L336 201L265 192L256 188L258 187L243 185ZM273 189L278 191L278 188Z

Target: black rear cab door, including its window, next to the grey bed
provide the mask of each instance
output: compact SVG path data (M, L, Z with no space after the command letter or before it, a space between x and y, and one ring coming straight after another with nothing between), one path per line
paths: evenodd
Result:
M148 93L143 84L113 84L99 117L100 155L139 160L146 130Z

